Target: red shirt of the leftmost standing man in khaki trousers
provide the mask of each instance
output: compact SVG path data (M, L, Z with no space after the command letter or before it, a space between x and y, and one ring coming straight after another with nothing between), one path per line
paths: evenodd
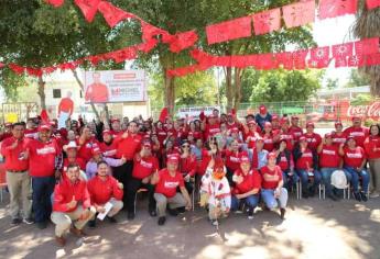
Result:
M10 146L13 145L14 142L18 142L18 146L14 149L10 149ZM23 156L23 153L26 151L26 139L15 139L13 136L6 138L1 143L1 155L6 158L4 168L6 170L12 171L26 171L29 167L28 159L19 159L20 156Z

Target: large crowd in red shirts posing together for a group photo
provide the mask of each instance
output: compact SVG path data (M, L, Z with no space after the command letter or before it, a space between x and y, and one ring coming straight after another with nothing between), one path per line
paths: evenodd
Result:
M270 114L264 105L239 120L235 113L152 119L112 119L85 123L32 117L6 124L0 135L11 224L45 228L55 224L55 239L65 245L68 232L84 235L86 224L116 223L123 207L137 212L137 193L148 196L148 213L163 225L199 204L213 225L232 212L252 219L256 207L279 210L285 218L289 193L314 196L324 187L341 199L332 177L344 177L357 201L380 192L379 125L362 126L352 117L345 128L324 136L313 122ZM334 176L336 174L336 176ZM344 187L344 188L346 188ZM194 202L195 201L195 202ZM100 218L100 219L97 219Z

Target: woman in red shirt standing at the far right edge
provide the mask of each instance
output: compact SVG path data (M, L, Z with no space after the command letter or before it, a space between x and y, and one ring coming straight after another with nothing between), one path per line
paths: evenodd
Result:
M378 124L369 127L370 135L365 140L370 172L370 198L380 195L380 128Z

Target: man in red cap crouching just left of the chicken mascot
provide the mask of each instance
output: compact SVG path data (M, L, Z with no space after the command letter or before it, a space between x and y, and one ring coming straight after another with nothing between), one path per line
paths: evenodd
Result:
M169 205L172 215L177 215L177 207L192 209L192 201L186 191L184 179L178 168L178 157L171 156L167 159L167 168L154 172L151 184L155 185L154 200L159 212L159 225L165 224L166 205ZM177 193L180 188L181 193Z

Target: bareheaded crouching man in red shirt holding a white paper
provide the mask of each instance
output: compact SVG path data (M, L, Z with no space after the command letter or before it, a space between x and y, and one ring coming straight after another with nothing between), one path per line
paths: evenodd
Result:
M107 203L112 204L112 209L107 213L107 217L110 223L116 223L115 215L118 214L123 206L121 201L123 185L110 176L110 169L106 161L99 161L97 166L98 172L96 177L87 183L91 205L96 209L97 213L105 213L105 205ZM91 218L88 226L95 227L96 218Z

